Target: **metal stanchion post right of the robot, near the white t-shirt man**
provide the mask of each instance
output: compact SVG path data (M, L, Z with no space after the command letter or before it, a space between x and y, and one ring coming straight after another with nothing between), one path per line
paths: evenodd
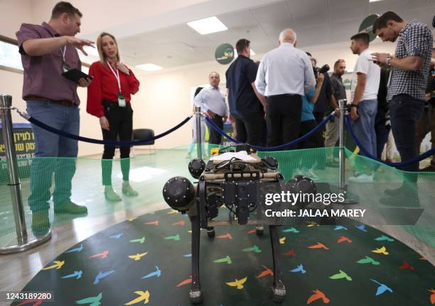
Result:
M346 193L345 187L345 175L346 175L346 156L345 156L345 114L346 114L346 99L338 100L338 107L340 109L340 142L339 142L339 171L340 171L340 180L339 180L339 191L343 193L345 196L345 202L340 202L340 204L358 204L357 201L350 199L349 195Z

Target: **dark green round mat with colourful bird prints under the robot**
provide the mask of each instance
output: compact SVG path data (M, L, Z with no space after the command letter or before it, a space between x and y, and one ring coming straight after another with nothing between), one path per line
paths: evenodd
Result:
M170 209L100 231L53 259L23 288L54 302L12 305L190 305L190 222ZM435 268L369 226L340 219L279 227L282 305L433 305ZM201 231L203 305L275 305L269 231L218 226ZM234 286L240 283L239 287Z

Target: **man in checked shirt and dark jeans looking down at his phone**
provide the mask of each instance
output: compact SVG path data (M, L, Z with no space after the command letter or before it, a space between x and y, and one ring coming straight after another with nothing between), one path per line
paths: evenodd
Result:
M394 56L388 53L373 53L373 60L381 66L390 66L392 72L388 85L387 102L390 107L391 128L402 161L417 157L417 120L423 113L425 89L431 62L431 30L418 21L404 21L396 13L387 11L373 25L373 33L382 41L397 41ZM419 163L401 168L417 172ZM417 182L417 175L412 175ZM400 191L387 192L400 196Z

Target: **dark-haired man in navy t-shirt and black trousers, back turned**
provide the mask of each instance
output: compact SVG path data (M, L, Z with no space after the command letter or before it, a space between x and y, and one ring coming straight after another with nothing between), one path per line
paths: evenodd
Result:
M236 43L237 59L230 65L227 78L230 116L235 119L237 140L254 146L264 146L263 121L266 99L257 92L254 81L257 65L249 58L249 40Z

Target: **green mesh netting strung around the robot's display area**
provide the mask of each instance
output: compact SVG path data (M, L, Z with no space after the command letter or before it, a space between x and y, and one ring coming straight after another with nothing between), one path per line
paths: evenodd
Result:
M206 148L210 152L210 148L213 147L215 146ZM135 155L128 160L114 159L112 186L122 197L120 202L110 202L104 198L104 186L102 185L104 161L100 159L31 158L18 160L23 205L29 231L32 231L31 224L36 223L40 225L41 232L43 232L48 227L44 221L47 218L50 218L50 224L53 226L71 222L77 217L98 217L154 204L161 204L161 207L165 207L161 190L166 180L177 175L190 177L187 168L189 162L186 158L187 151L188 146L181 146L159 150L155 153ZM274 156L279 161L279 170L286 180L294 175L307 175L315 180L319 192L339 192L338 166L331 163L337 151L338 148L313 148L298 151L261 152L259 155L260 157ZM195 155L196 151L194 150L193 153ZM418 239L435 246L435 175L404 173L348 150L345 151L345 155L348 198L357 200L358 205L367 208L370 212L366 219L360 221L375 225L398 224ZM139 192L137 197L122 195L121 168L122 165L125 167L128 163L131 167L129 180L131 187ZM0 166L0 246L4 246L14 239L15 223L11 194L7 185L5 160L1 160ZM107 166L105 168L107 169ZM52 174L47 175L47 173ZM373 181L350 182L348 180L349 177L358 173L372 175ZM73 180L70 181L68 177L72 174L74 174ZM405 182L404 185L403 182ZM48 217L43 211L39 214L31 213L29 196L32 184L36 186L33 199L49 198ZM38 190L38 186L44 184L51 185L48 194L43 190ZM385 195L385 190L398 187L405 192L398 192L397 197ZM70 189L72 192L70 199L76 204L87 207L86 214L80 214L80 209L70 206L68 202L68 190ZM390 204L384 204L381 201L382 198L393 200ZM56 212L53 209L53 202L56 202ZM63 213L71 211L77 214Z

